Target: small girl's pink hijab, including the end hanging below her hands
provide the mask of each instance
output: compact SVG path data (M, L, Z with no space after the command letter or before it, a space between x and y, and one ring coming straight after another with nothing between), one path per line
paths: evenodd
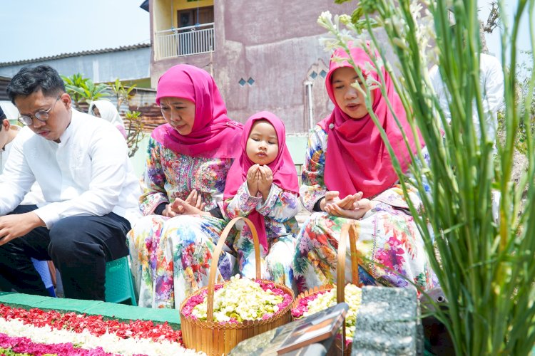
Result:
M251 129L253 128L253 124L258 120L267 120L273 127L275 127L275 132L277 132L279 152L277 157L275 157L275 160L270 164L267 164L267 167L270 167L273 172L273 184L276 184L277 187L281 189L299 194L299 183L297 182L295 164L293 163L292 156L290 156L290 151L288 151L288 148L286 147L286 130L284 123L277 116L272 114L272 112L262 111L249 117L247 122L245 122L241 137L241 156L240 159L236 159L233 165L230 166L225 184L225 193L223 194L224 200L236 195L240 186L247 180L247 172L249 168L255 164L249 159L246 150L247 140L249 139ZM225 208L226 205L227 204L225 204ZM250 212L248 218L255 224L260 244L267 252L267 236L265 234L264 216L259 214L258 211L253 210Z

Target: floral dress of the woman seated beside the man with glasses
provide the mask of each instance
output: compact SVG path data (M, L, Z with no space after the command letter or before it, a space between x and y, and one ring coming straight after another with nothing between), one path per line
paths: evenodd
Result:
M128 233L132 271L141 307L179 308L188 295L208 286L212 252L226 221L198 215L168 218L153 211L177 197L186 199L193 189L201 194L205 211L217 208L232 159L178 154L152 137L147 151L140 197L145 216ZM221 253L218 281L235 273L232 244L227 241Z

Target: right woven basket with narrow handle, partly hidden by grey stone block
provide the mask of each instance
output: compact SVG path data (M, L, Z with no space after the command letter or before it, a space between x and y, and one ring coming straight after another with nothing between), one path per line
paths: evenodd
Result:
M351 258L351 283L355 284L355 286L359 285L359 265L357 262L357 244L356 240L356 232L355 232L355 226L353 224L346 224L342 226L342 231L340 233L340 240L338 241L338 250L337 250L337 266L336 266L336 285L333 286L331 284L326 284L324 286L314 287L309 290L305 290L305 292L300 293L297 295L297 298L292 303L292 309L296 308L297 305L299 305L299 300L302 298L306 298L310 295L315 295L317 293L322 292L323 290L330 290L332 288L336 289L336 302L337 303L343 303L345 301L345 251L347 251L347 236L350 237L350 258ZM341 287L340 287L341 286ZM343 321L342 325L345 325L345 320ZM343 355L351 355L351 345L352 342L348 345L348 347L345 347L345 342L342 342L342 340L345 340L345 327L342 328L342 338L340 339L337 337L335 339L335 344L337 347L338 352L342 352Z

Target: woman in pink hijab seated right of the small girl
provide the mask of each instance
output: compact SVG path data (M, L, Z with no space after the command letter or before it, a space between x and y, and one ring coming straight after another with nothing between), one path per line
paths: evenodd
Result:
M349 58L342 48L335 51L335 56ZM362 48L351 47L350 56L365 78L379 80ZM409 149L379 88L371 90L372 109L403 171L407 172L412 164L411 153L417 152L417 142L422 147L424 143L421 137L415 140L411 134L389 74L384 68L378 70L386 83L386 96L408 136ZM305 208L314 214L297 236L297 288L302 291L336 283L337 247L345 224L356 227L361 285L407 287L414 283L423 290L432 288L436 278L422 236L397 186L389 152L367 111L365 96L355 88L362 86L359 75L349 61L331 59L325 85L335 108L318 123L309 138L300 194ZM422 150L424 157L428 157L425 147ZM418 205L416 189L409 194Z

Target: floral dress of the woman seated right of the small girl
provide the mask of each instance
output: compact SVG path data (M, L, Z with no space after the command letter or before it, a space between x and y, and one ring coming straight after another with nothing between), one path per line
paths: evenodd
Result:
M326 152L327 132L316 126L309 137L300 189L302 203L309 211L327 192L324 182ZM426 159L428 156L424 155ZM419 206L421 200L416 189L410 189L409 194L412 202ZM297 236L293 261L298 290L336 283L338 240L345 224L357 228L359 277L363 285L407 287L411 286L411 281L427 290L437 284L401 187L389 188L372 200L378 204L360 220L315 212L305 222ZM346 264L350 266L349 248ZM346 271L350 273L350 269ZM346 281L350 282L348 273Z

